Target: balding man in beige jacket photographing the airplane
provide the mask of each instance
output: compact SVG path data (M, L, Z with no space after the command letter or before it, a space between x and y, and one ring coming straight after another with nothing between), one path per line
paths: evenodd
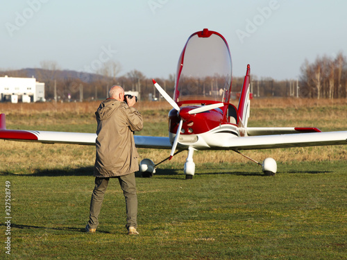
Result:
M139 170L135 148L134 131L143 128L141 114L133 107L133 98L126 97L124 89L113 86L108 93L110 98L103 101L95 112L98 127L96 134L96 159L94 165L95 187L90 202L90 220L86 232L96 232L98 216L103 202L103 195L110 178L117 178L126 200L126 228L128 234L137 232L137 195L135 171Z

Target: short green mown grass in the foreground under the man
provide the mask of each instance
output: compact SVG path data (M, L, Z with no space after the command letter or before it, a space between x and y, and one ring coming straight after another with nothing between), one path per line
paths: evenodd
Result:
M253 164L203 164L184 180L167 164L153 178L137 177L139 236L126 235L116 181L96 234L83 233L92 167L0 175L1 196L11 182L11 257L346 259L345 162L279 166L264 177Z

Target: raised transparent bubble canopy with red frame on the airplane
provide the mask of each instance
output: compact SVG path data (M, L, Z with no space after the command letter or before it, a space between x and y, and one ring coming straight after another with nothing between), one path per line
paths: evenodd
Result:
M193 33L178 60L174 100L229 102L232 62L222 35L203 29Z

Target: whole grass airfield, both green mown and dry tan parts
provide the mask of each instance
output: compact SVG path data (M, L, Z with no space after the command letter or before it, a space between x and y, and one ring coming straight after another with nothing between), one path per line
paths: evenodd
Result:
M98 105L0 104L0 112L7 115L8 129L94 132ZM167 135L169 107L138 105L145 126L137 134ZM343 101L255 100L251 107L250 126L347 130ZM124 197L117 181L110 182L105 194L96 234L83 233L94 187L94 149L1 141L3 201L6 181L11 185L11 254L6 257L347 258L346 146L246 153L258 161L275 158L278 173L273 177L231 151L205 151L194 154L196 175L185 180L187 153L180 153L158 166L152 178L137 173L139 236L126 235ZM139 149L139 154L160 162L169 150ZM5 205L2 212L5 242ZM6 255L4 247L0 254Z

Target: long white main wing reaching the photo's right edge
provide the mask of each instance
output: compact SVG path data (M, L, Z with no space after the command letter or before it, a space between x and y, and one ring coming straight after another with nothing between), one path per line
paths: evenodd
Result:
M256 150L347 144L347 131L232 138L230 150Z

